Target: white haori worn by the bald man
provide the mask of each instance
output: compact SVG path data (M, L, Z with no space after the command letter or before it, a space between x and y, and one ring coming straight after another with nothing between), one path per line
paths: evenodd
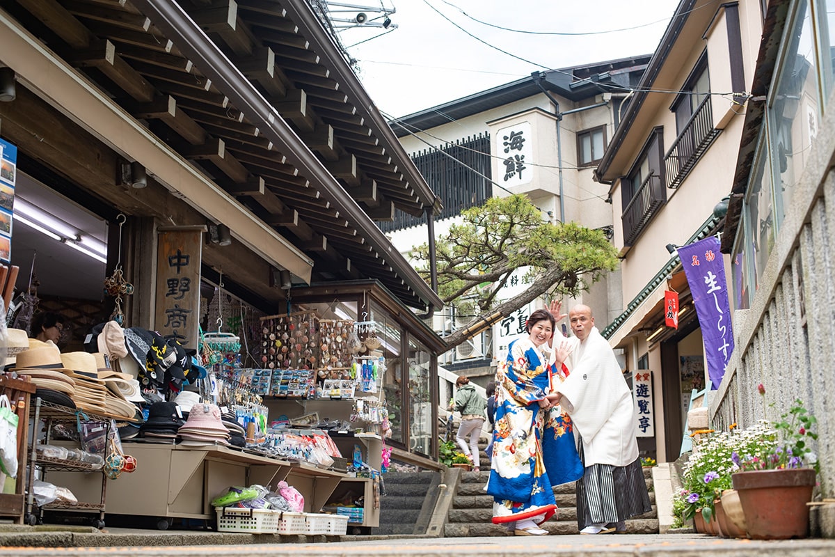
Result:
M569 377L559 385L562 408L583 438L584 465L626 466L638 458L638 418L632 392L609 342L592 327L584 342L568 339Z

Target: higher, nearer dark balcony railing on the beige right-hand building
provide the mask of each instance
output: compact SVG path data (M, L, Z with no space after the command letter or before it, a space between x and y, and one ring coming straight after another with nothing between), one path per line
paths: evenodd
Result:
M667 179L670 180L667 185L669 188L677 188L681 185L721 131L713 127L710 101L710 95L701 101L696 112L687 120L678 139L664 157Z

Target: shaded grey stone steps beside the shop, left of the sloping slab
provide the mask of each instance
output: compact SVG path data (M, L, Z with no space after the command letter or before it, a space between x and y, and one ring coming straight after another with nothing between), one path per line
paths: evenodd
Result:
M385 496L380 498L380 525L372 534L426 534L435 507L441 473L394 472L382 476Z

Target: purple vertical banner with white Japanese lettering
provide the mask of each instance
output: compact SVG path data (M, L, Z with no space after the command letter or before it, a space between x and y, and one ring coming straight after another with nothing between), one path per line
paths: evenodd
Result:
M711 236L681 246L678 252L705 342L707 376L711 379L711 389L716 390L733 352L731 306L719 240Z

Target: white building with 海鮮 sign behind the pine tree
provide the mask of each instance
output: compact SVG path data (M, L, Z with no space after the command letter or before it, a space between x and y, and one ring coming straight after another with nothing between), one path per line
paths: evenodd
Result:
M607 188L593 171L602 158L620 116L649 57L637 57L536 72L494 89L409 114L392 121L404 149L443 201L435 223L443 234L462 210L490 196L524 194L549 222L576 221L611 230ZM426 233L407 215L397 213L382 230L404 253L423 242ZM619 308L615 273L599 281L573 303L592 306L603 321ZM524 270L511 278L503 299L524 290ZM536 304L539 304L538 306ZM493 377L497 358L524 334L530 311L543 301L480 333L442 357L443 366L484 384ZM473 316L438 314L434 329L452 332Z

